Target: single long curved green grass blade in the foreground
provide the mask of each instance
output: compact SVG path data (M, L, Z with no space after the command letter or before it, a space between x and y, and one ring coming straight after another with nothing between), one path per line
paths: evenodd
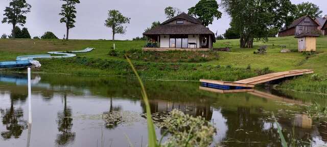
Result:
M127 55L125 55L125 57L126 57L127 62L129 63L129 65L131 66L135 76L137 77L137 80L138 80L139 84L141 85L141 94L142 94L144 103L146 105L146 111L147 111L148 141L149 141L148 145L149 145L149 147L156 147L156 146L158 146L157 136L155 134L154 124L152 122L151 109L150 109L150 103L149 103L147 92L145 90L145 87L144 87L144 84L143 84L143 82L141 80L141 77L139 77L138 73L135 70L134 65L129 60Z

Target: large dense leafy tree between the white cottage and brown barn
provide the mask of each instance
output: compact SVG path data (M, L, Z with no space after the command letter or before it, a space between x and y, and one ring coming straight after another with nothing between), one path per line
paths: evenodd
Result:
M240 47L253 47L254 39L264 39L272 28L281 27L291 13L290 0L222 0L231 16L231 27L240 34Z

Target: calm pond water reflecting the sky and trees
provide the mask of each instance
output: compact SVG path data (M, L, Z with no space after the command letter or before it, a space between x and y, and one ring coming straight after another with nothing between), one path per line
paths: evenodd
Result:
M145 106L134 79L51 74L32 78L31 146L129 146L125 135L134 146L146 146ZM214 123L215 142L223 146L282 146L271 112L288 142L294 126L300 140L296 146L327 145L327 121L300 112L303 104L325 104L326 97L268 90L218 94L199 90L199 82L145 83L154 115L179 108L203 116ZM109 125L104 115L116 111L121 123ZM26 74L0 75L0 112L0 146L26 146ZM165 130L156 132L161 136Z

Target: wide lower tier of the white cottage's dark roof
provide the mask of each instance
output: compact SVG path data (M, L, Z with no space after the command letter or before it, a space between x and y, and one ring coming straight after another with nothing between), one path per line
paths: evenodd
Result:
M171 35L171 34L212 34L209 28L202 24L166 24L159 25L143 33L143 35Z

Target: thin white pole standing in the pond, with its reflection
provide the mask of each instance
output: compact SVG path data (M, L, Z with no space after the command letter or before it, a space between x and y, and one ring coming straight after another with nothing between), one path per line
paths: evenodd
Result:
M31 68L27 68L27 77L28 77L28 99L29 99L29 125L28 125L28 134L27 134L27 147L30 147L31 142L31 131L32 131L32 105L31 105Z

